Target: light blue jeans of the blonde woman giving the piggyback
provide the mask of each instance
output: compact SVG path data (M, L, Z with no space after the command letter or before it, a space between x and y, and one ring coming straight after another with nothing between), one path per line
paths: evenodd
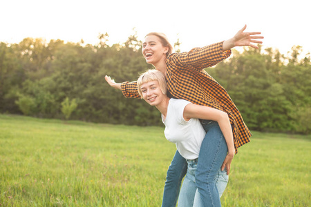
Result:
M186 177L182 183L182 187L180 189L180 195L178 199L178 207L189 207L194 206L194 198L198 194L198 189L196 188L196 168L198 165L197 160L187 160L188 169ZM218 189L219 197L223 195L225 188L228 183L229 176L227 175L227 171L220 169L216 177L214 177L214 181L216 182L216 187ZM197 195L198 196L198 195Z

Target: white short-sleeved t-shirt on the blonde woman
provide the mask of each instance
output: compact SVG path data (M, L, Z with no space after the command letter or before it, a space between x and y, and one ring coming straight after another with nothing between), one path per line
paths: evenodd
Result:
M167 117L164 120L162 115L162 121L165 125L165 137L176 143L180 155L185 159L196 159L206 132L199 119L185 121L183 113L189 103L191 102L182 99L170 99Z

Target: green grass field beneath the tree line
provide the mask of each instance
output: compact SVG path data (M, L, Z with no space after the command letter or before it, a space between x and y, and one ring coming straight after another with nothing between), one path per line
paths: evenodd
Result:
M253 132L223 206L311 206L310 141ZM0 206L160 206L175 151L161 127L0 115Z

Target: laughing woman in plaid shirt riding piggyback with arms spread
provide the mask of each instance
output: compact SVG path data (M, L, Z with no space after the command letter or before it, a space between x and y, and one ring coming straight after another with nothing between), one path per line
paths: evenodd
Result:
M241 113L225 88L220 86L203 69L215 66L223 59L229 57L231 49L236 46L258 48L253 43L262 43L258 39L263 39L263 37L257 35L261 34L261 32L244 32L245 28L246 26L239 30L231 39L202 48L193 48L189 52L172 53L173 47L167 40L167 37L162 33L155 32L147 34L142 46L142 55L147 63L152 64L156 70L163 73L167 81L167 95L169 97L185 99L197 105L222 110L229 116L230 123L233 126L234 150L229 149L228 152L223 152L225 161L223 161L222 169L227 170L227 174L229 174L230 170L230 165L227 164L228 161L232 160L234 154L238 152L238 147L249 142L251 132L245 125ZM115 83L108 76L105 79L113 88L122 90L125 97L140 98L136 81ZM214 206L220 206L217 193L210 195L211 192L215 192L212 179L214 179L217 172L210 172L208 177L206 175L210 165L214 164L211 162L209 152L214 153L214 150L218 150L214 147L211 148L209 143L219 140L220 137L223 137L223 133L218 129L214 121L201 120L201 124L206 131L206 135L202 141L198 157L196 185L203 206L208 206L207 202L209 201L214 203ZM162 206L176 206L180 184L186 172L187 162L177 150L167 171Z

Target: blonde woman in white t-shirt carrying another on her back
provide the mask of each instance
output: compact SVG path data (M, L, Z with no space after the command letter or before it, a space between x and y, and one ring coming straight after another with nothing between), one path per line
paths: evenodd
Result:
M223 150L227 150L227 148L234 148L232 126L227 113L207 106L199 106L189 101L167 97L165 78L158 70L147 70L140 75L137 83L142 99L151 106L156 106L162 113L165 137L176 143L178 152L187 160L188 170L180 190L178 206L200 206L200 194L196 193L195 172L200 146L206 133L200 119L218 123L224 136L224 139L220 141L223 141L223 146L225 146ZM221 166L223 162L220 164L221 167L219 164L215 166L219 170L217 169L218 175L214 182L220 196L227 186L226 170L229 171L231 162L232 159L225 166Z

